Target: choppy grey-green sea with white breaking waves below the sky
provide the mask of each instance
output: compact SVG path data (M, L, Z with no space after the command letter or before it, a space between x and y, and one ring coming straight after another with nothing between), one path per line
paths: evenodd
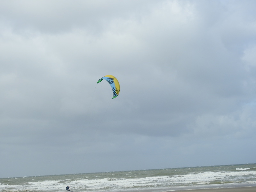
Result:
M182 167L0 179L2 192L164 192L256 186L256 164Z

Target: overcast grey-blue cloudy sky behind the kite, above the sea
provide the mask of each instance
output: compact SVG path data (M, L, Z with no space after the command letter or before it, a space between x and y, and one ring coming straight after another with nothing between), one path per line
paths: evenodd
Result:
M0 177L256 163L255 7L1 1Z

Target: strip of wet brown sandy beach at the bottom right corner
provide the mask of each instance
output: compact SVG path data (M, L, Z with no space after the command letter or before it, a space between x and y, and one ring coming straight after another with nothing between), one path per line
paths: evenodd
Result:
M189 189L177 192L256 192L256 187Z

